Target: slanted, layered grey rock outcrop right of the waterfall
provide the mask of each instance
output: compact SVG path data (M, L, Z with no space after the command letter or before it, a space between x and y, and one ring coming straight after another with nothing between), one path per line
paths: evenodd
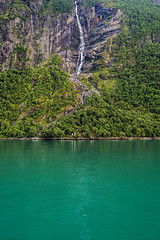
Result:
M104 4L86 9L79 6L81 23L85 32L86 49L84 72L94 70L100 58L106 58L101 53L110 48L107 40L114 38L120 32L122 12ZM110 49L111 51L111 49Z

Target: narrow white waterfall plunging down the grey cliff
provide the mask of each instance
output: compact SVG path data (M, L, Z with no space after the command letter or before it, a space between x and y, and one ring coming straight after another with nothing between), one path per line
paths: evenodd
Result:
M84 63L85 41L84 41L84 33L83 33L82 25L80 23L80 19L79 19L79 15L78 15L77 1L75 1L75 12L76 12L76 17L77 17L78 29L79 29L79 33L80 33L79 56L78 56L77 68L76 68L76 73L78 75L81 73L81 69L82 69L82 66Z

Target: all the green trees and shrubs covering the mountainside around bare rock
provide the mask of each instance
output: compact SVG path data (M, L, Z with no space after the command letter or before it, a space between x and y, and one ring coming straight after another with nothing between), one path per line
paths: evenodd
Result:
M109 39L89 78L101 97L94 94L80 106L58 56L38 69L5 71L0 74L1 137L160 136L160 5L149 0L106 5L124 15L121 33ZM70 11L73 1L50 0L47 6L58 14Z

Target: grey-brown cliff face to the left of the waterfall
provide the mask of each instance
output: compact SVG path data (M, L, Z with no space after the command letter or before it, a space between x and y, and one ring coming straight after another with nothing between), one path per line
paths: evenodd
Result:
M53 16L49 10L40 16L41 2L22 3L12 19L0 8L3 18L0 34L0 64L2 70L15 66L36 66L58 53L66 63L66 70L75 71L78 57L79 36L74 11L72 14ZM27 2L27 1L26 1ZM12 10L15 6L12 6Z

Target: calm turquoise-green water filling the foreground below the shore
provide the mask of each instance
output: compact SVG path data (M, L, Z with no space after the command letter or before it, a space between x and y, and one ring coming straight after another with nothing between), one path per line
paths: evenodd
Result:
M160 141L0 141L0 240L159 240Z

